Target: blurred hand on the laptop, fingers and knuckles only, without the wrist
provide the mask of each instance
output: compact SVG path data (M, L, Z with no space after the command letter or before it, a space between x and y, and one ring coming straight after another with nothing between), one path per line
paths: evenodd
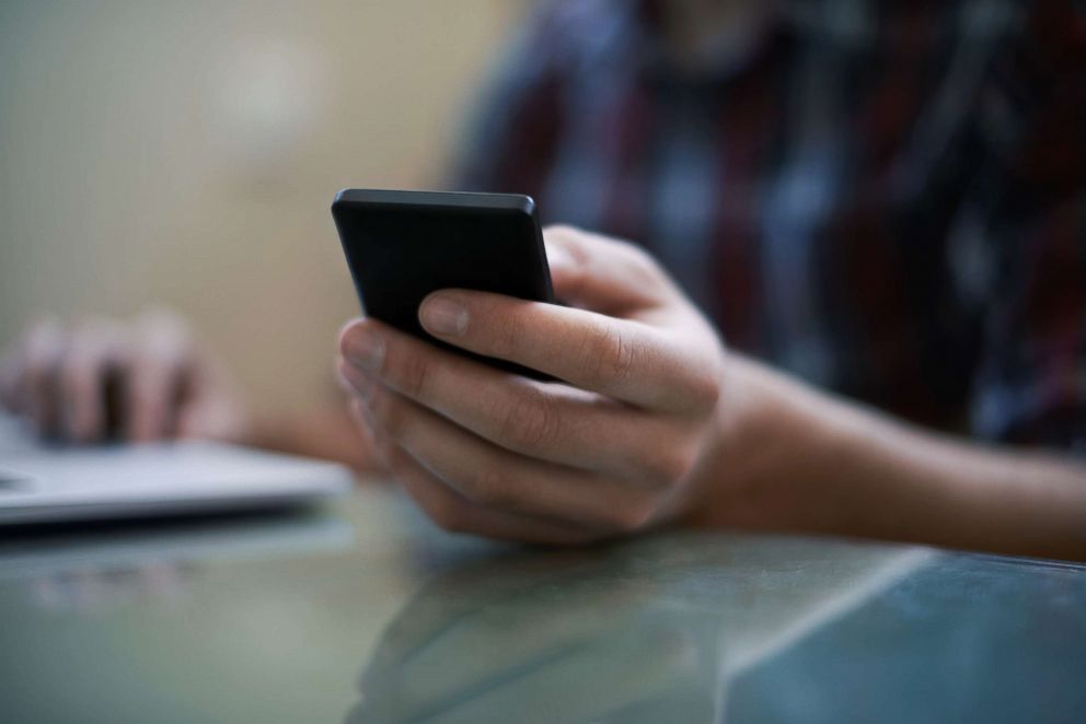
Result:
M0 405L42 435L82 443L240 441L247 428L221 365L184 318L161 310L130 323L30 325L0 357Z

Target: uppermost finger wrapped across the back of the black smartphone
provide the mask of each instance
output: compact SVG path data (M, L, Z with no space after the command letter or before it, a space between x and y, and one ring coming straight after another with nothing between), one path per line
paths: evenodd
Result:
M714 360L642 322L467 290L430 294L419 319L451 345L638 407L688 410L716 401Z

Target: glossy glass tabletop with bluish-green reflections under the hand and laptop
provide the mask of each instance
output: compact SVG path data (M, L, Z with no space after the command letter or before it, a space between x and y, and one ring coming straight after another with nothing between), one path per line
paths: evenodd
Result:
M542 550L386 487L0 536L4 722L1082 722L1086 568L674 532Z

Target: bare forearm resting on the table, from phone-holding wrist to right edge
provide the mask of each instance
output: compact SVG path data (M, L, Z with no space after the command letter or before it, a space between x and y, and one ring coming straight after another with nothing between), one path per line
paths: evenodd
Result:
M741 412L725 416L700 519L1086 558L1086 467L928 433L732 363L725 405Z

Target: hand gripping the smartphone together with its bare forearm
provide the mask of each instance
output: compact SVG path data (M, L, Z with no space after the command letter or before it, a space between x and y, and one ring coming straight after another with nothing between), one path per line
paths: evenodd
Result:
M685 523L1086 557L1086 470L915 430L729 354L635 247L551 229L570 307L465 290L426 329L538 383L373 319L340 334L353 414L441 526L578 544Z

